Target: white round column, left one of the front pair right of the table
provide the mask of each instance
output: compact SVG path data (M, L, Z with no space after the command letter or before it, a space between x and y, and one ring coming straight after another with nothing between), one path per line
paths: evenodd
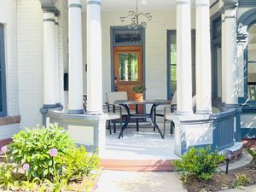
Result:
M192 112L190 0L177 0L177 114Z

